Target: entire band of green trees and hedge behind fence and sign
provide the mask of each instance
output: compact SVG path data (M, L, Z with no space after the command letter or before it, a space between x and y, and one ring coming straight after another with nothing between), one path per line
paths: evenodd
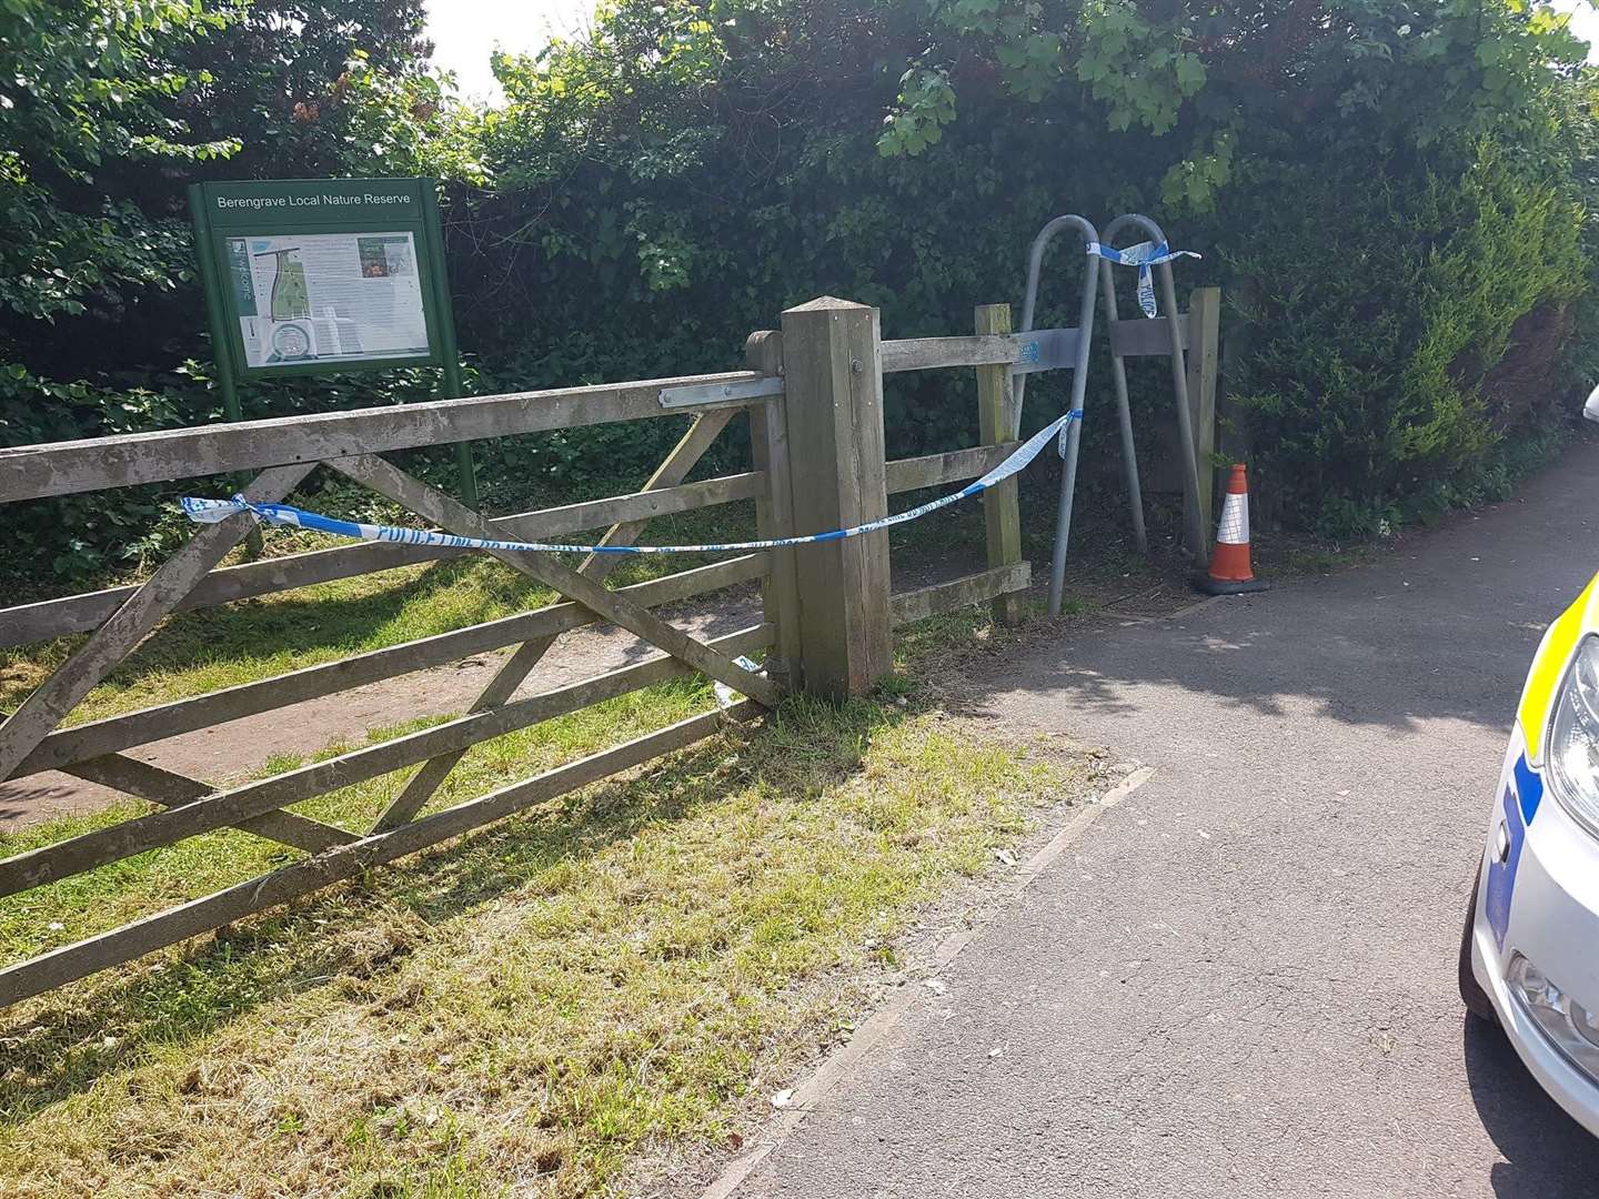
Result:
M417 0L0 5L26 80L0 80L10 443L217 417L182 187L219 176L453 181L484 390L721 369L819 294L881 305L891 337L961 333L974 304L1019 297L1049 216L1148 211L1206 253L1180 286L1226 289L1233 432L1266 508L1322 529L1498 486L1599 376L1593 78L1564 18L1525 0L616 0L584 38L497 56L488 112L427 69ZM85 53L94 38L112 50ZM1065 325L1083 265L1057 253L1038 317ZM1156 376L1134 368L1143 449L1167 420ZM245 403L403 403L432 382ZM1095 369L1091 406L1105 385ZM1027 422L1060 401L1035 380ZM894 454L975 436L964 376L895 379L891 412ZM1084 427L1091 492L1111 432ZM488 446L484 492L606 491L676 433ZM739 462L736 441L707 468ZM152 552L128 531L158 500L14 513L8 561L37 569L66 524L61 572L115 569Z

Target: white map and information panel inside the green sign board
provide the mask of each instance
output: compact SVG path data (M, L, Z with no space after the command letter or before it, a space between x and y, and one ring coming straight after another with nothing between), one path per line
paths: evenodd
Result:
M408 232L230 237L227 267L249 366L432 353Z

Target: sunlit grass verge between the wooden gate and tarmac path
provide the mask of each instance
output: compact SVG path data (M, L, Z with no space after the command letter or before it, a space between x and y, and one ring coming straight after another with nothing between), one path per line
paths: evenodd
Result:
M982 641L977 617L929 625L905 641L918 671ZM456 787L705 700L704 684L664 686L507 737ZM924 710L903 675L843 707L790 700L753 731L6 1012L0 1193L614 1193L652 1161L728 1145L752 1097L862 1007L855 980L892 964L915 913L1092 780ZM318 811L353 819L393 785ZM0 953L277 854L221 833L0 902Z

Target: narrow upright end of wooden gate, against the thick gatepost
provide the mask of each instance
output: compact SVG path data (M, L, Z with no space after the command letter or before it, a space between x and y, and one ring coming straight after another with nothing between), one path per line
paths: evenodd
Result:
M784 372L784 336L776 329L752 333L744 344L744 361L768 376ZM793 483L788 465L788 425L777 404L750 409L750 460L766 473L766 489L755 499L755 536L766 540L787 537L793 529ZM772 571L761 587L766 620L777 627L777 641L766 657L766 675L785 691L798 686L800 593L795 574L796 550L771 550Z

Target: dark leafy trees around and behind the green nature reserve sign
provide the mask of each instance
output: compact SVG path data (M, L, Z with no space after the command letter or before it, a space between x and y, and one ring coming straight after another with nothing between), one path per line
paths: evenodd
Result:
M483 181L416 0L0 3L0 444L217 419L184 189L205 177ZM256 388L253 414L432 380ZM421 388L421 390L419 390ZM0 569L101 576L169 544L138 489L6 513ZM62 529L67 536L62 537Z

